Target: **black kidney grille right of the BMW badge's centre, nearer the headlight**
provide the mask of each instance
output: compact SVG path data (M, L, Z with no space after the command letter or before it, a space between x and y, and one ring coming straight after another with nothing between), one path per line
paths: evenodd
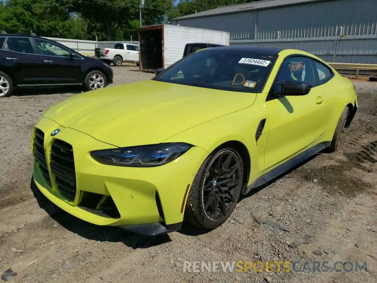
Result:
M52 143L50 168L61 194L73 201L76 195L76 172L73 148L69 143L61 140Z

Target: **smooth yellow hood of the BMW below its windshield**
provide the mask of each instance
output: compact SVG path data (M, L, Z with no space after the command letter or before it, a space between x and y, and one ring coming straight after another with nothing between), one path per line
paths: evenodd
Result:
M44 112L59 125L114 146L160 143L253 104L256 94L145 80L67 98Z

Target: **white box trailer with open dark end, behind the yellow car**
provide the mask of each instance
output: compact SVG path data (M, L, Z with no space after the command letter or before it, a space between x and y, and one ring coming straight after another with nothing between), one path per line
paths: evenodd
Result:
M139 69L147 72L167 68L181 59L187 43L229 45L230 42L229 32L189 26L142 26L138 28L138 33Z

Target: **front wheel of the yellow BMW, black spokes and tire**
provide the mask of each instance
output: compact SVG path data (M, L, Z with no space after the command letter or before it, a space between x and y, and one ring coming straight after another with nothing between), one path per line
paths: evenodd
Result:
M229 163L227 163L228 157L230 157ZM222 158L222 163L218 163L221 160L220 158ZM232 175L227 176L229 180L227 183L222 183L225 180L224 174L221 174L221 171L227 167L227 164L227 171L233 171L233 169L231 169L233 166L236 166L236 170ZM216 166L218 165L220 166L220 175L216 176ZM191 185L190 193L187 197L184 220L205 229L215 229L222 225L236 207L241 195L243 177L243 161L236 150L232 148L222 148L210 154L199 168ZM223 196L227 195L224 192L225 184L232 183L231 181L236 181L234 184L228 186L231 197L228 195L227 198L228 200L232 198L232 200L229 203L225 203L225 201L227 201L226 198L221 197L219 193L222 191L224 193ZM222 186L220 186L220 183L222 183ZM207 186L207 189L204 189L205 186ZM213 195L215 195L215 202L210 201ZM224 201L225 209L222 209L222 215L214 215L214 211L218 213L218 210L221 209L219 199ZM213 209L215 206L216 208ZM222 207L224 208L224 206Z

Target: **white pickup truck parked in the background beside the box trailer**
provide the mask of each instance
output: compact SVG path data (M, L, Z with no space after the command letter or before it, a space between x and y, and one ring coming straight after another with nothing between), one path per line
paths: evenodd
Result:
M107 64L121 66L123 62L132 62L139 66L139 45L115 43L114 48L95 48L95 57Z

